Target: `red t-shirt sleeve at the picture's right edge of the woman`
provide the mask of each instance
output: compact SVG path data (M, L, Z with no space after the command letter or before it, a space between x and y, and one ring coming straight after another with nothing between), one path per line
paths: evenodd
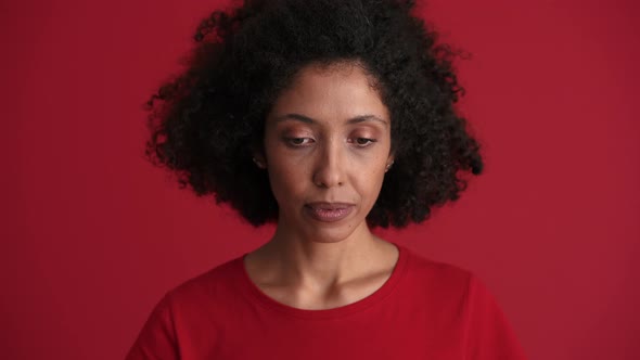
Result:
M486 285L474 274L469 279L465 313L465 359L526 359L504 313Z

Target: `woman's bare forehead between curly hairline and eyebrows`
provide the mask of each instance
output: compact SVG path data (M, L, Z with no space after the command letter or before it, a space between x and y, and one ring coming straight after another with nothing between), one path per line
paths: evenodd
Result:
M363 115L388 121L388 110L374 86L374 78L354 63L307 65L276 100L269 118L295 113L319 123Z

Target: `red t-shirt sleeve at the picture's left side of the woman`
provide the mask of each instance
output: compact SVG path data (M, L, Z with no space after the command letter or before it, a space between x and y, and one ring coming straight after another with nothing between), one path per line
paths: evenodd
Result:
M179 359L170 292L156 304L126 360Z

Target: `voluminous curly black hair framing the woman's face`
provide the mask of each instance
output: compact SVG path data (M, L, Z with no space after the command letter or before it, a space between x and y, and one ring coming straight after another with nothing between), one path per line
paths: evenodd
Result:
M409 0L245 0L214 11L185 70L146 102L146 157L253 226L276 221L268 175L252 162L267 114L302 67L356 62L389 110L395 155L367 222L424 221L433 206L459 198L464 172L479 175L483 159L455 107L460 53L438 43L414 9Z

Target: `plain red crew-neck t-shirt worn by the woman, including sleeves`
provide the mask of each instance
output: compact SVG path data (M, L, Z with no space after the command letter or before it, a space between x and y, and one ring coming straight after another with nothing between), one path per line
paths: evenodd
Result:
M225 262L169 291L127 360L525 359L473 273L396 245L399 259L382 287L324 310L268 297L244 256Z

